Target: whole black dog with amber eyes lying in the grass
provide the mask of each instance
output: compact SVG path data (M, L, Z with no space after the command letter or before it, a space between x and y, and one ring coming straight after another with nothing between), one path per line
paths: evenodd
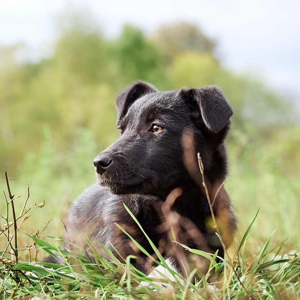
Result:
M71 207L67 225L71 242L83 245L87 235L95 245L100 241L118 255L113 245L123 258L137 256L132 263L148 274L155 266L153 261L114 224L154 253L125 203L179 272L182 264L188 268L191 259L183 247L172 242L171 227L177 241L206 252L218 250L222 256L197 160L200 153L213 212L227 247L236 219L224 187L218 190L227 175L224 139L232 116L222 91L208 86L159 92L139 81L120 93L116 103L121 134L94 160L98 182ZM196 264L205 272L205 259Z

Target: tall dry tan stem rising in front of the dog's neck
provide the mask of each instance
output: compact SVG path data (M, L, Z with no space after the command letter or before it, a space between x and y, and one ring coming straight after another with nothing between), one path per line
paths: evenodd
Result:
M214 214L214 212L213 212L212 203L211 203L210 197L209 197L209 192L208 192L207 186L206 186L206 184L205 184L205 179L204 179L204 167L203 167L202 159L201 159L201 157L200 157L200 153L197 154L197 157L198 157L198 164L199 164L200 173L201 173L201 176L202 176L202 185L203 185L203 187L204 187L204 189L205 189L205 193L206 193L206 197L207 197L207 202L208 202L209 209L210 209L210 212L211 212L211 215L212 215L212 222L213 222L214 226L216 227L216 230L217 230L218 236L219 236L219 238L220 238L220 241L221 241L222 247L223 247L223 249L224 249L224 252L226 253L226 256L229 257L228 252L227 252L227 249L226 249L225 244L224 244L224 242L223 242L223 240L222 240L222 236L221 236L221 233L220 233L219 228L218 228L218 225L217 225L217 221L216 221L216 218L215 218L215 214ZM223 183L223 184L224 184L224 183ZM222 185L223 185L223 184L222 184ZM222 185L221 185L221 187L222 187ZM217 192L216 192L216 195L217 195L218 191L221 189L221 187L218 188L218 190L217 190ZM215 197L214 197L214 199L213 199L213 202L214 202L215 199L216 199L216 195L215 195ZM230 267L232 268L233 272L235 273L238 282L241 284L241 286L243 287L243 289L244 289L245 292L247 293L248 297L249 297L250 299L253 299L253 300L254 300L254 297L248 292L248 290L246 289L246 287L244 286L244 284L243 284L242 281L240 280L240 277L239 277L239 275L237 274L237 271L236 271L235 268L233 267L233 265L232 265L232 263L230 262L230 260L228 260L228 263L229 263ZM225 267L226 267L226 266L225 266Z

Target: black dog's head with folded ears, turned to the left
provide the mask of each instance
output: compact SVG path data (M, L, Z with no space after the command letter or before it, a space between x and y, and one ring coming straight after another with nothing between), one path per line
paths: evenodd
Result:
M215 86L159 92L136 82L116 99L120 137L94 160L116 194L165 194L197 183L197 152L210 180L226 176L232 109ZM198 183L197 183L198 184Z

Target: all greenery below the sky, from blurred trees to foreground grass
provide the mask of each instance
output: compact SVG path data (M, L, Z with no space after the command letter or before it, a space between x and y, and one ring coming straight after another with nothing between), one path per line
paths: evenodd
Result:
M27 183L27 207L46 203L18 221L18 248L35 242L34 248L19 251L18 263L3 253L0 299L37 294L62 299L299 299L298 108L259 78L222 67L214 48L214 41L187 23L161 27L150 36L126 25L112 40L92 21L78 17L64 23L48 58L20 62L22 47L1 48L0 187L8 197L4 172L17 178L9 181L15 197L21 195L13 201L17 215L27 198ZM177 280L168 282L174 287L168 291L140 288L140 282L151 279L135 270L129 258L118 262L112 257L112 264L96 252L96 263L65 252L66 265L54 271L47 269L54 265L30 263L59 252L65 230L61 220L95 181L94 157L118 137L115 95L137 79L163 90L217 84L234 110L225 188L236 209L238 234L229 257L219 264L207 257L218 274L213 290L205 274L195 284L192 278L182 284L181 275L173 274ZM0 199L5 218L4 194ZM1 219L1 230L6 222ZM0 249L7 244L1 234ZM163 259L160 263L165 265Z

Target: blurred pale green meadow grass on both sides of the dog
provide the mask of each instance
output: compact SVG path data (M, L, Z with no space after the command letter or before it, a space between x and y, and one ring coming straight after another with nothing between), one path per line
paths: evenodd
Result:
M239 133L237 129L229 136L230 168L225 188L236 208L241 232L245 232L260 207L260 217L253 224L255 235L249 241L250 251L257 251L257 244L267 240L274 229L274 243L288 237L287 250L300 250L300 230L296 221L300 211L299 137L299 130L291 133L285 130L270 141L257 138L252 132ZM61 219L66 218L75 197L96 180L93 159L107 145L97 145L95 140L91 132L81 130L69 148L62 151L53 147L51 132L45 130L41 149L28 153L18 170L8 170L11 178L18 178L10 182L12 190L22 195L15 201L17 210L22 208L21 201L27 196L28 181L32 184L30 198L37 203L47 202L42 211L32 209L30 217L22 224L24 231L42 231L51 220L43 234L62 235ZM5 170L2 171L0 174L4 174ZM4 182L0 183L0 188L1 191L5 189ZM3 197L0 214L5 210ZM49 238L44 238L50 242ZM20 241L20 245L25 244L26 239ZM0 249L5 246L5 240L0 237ZM29 259L28 254L24 259Z

